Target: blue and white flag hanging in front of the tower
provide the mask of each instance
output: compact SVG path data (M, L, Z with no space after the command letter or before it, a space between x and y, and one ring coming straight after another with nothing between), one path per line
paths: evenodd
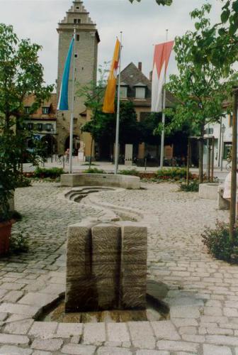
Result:
M61 111L67 111L69 109L68 103L68 88L69 88L69 70L70 62L72 58L72 51L74 48L74 37L69 45L69 52L67 54L66 62L64 64L64 72L62 76L62 82L60 87L60 99L58 102L57 109Z

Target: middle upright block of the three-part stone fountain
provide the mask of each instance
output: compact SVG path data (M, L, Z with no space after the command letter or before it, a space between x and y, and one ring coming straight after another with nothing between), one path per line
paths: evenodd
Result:
M100 310L113 310L118 307L120 245L119 226L98 224L92 228L92 274Z

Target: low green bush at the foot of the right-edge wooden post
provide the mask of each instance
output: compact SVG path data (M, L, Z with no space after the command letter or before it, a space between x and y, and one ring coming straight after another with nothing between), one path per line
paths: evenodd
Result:
M235 226L234 243L229 239L229 224L218 221L215 229L207 228L204 231L202 238L212 256L229 263L238 263L238 226Z

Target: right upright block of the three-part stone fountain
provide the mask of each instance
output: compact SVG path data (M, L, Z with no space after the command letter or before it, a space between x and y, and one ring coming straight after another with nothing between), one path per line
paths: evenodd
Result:
M132 222L120 223L122 253L120 293L123 309L146 308L147 227Z

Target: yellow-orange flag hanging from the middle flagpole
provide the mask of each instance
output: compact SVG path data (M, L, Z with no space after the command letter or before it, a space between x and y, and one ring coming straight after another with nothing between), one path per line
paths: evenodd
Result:
M111 63L111 70L108 77L108 86L106 88L104 102L103 102L103 112L106 114L113 114L115 112L115 86L118 75L118 63L120 56L120 42L116 40L115 50L113 55L113 61Z

